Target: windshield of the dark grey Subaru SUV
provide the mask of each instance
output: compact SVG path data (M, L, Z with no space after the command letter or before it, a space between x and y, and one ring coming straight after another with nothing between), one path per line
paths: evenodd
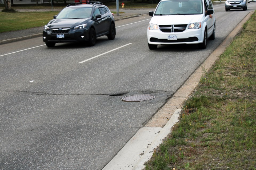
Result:
M64 8L56 19L74 19L74 18L89 18L91 16L92 7L74 7Z

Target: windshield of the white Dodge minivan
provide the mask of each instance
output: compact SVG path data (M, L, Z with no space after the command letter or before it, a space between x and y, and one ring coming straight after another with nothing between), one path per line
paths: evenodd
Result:
M154 15L203 14L202 0L161 1Z

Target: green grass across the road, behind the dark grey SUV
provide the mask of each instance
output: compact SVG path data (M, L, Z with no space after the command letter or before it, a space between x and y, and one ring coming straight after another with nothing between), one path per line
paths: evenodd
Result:
M155 8L157 4L152 3L142 3L141 1L130 2L130 1L120 1L119 5L122 8L122 2L125 3L125 8ZM116 8L116 2L108 2L104 3L110 9ZM54 4L54 9L62 9L65 5L63 4ZM5 8L3 4L0 5L0 9ZM27 5L13 5L13 9L51 9L50 4L27 4ZM8 32L8 31L17 31L28 28L42 27L47 24L51 19L53 19L54 15L57 15L59 12L50 11L50 12L0 12L0 33ZM116 14L116 12L113 12ZM122 14L124 12L119 12Z

